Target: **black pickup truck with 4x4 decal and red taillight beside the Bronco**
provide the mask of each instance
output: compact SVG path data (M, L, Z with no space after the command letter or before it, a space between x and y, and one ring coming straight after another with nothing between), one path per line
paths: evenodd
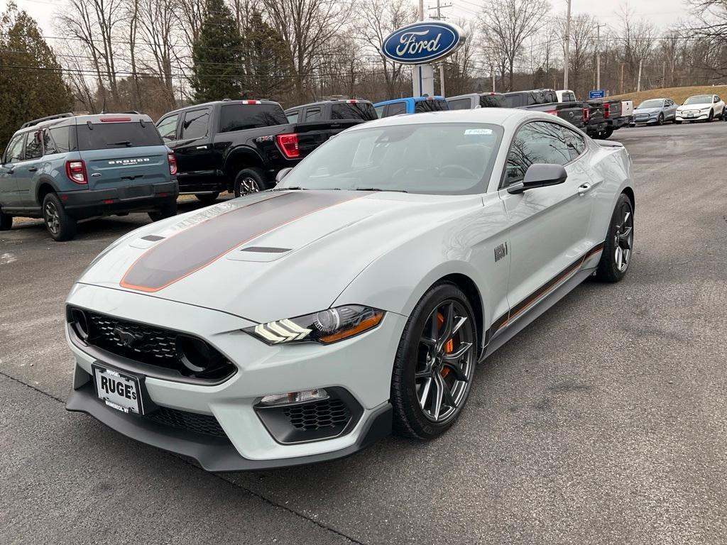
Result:
M289 124L270 100L220 100L166 113L156 127L177 158L180 193L212 202L273 187L278 171L295 166L353 119Z

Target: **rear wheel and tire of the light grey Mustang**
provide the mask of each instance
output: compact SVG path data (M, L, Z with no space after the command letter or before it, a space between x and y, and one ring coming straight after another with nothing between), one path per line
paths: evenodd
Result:
M627 217L626 214L629 214ZM626 218L624 220L624 217ZM601 261L595 271L596 280L601 282L619 282L624 278L631 262L634 242L634 209L628 195L622 193L616 201L616 208L611 215L611 222L608 224L606 233L606 244L603 246ZM619 265L619 257L616 246L619 246L622 258ZM628 250L624 249L628 246ZM625 263L625 265L623 265Z

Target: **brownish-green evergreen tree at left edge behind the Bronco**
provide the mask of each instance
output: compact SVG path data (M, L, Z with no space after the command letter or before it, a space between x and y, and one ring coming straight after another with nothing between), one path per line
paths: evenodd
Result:
M52 49L33 17L18 11L15 2L0 17L0 105L0 149L25 121L73 108Z

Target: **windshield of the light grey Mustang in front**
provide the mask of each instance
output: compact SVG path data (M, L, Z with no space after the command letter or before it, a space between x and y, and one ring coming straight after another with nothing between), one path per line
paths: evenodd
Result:
M343 132L277 189L484 193L502 141L492 124L406 124Z

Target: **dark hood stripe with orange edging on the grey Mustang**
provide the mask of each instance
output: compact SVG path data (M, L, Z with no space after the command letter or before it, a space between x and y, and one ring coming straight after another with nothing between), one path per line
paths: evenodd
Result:
M129 267L120 285L140 291L159 291L268 231L365 195L291 191L240 206L157 243Z

